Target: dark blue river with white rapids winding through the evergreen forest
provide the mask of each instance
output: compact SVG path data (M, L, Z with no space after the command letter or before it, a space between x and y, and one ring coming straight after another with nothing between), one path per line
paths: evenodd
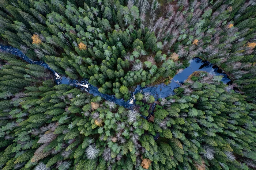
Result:
M33 61L29 57L27 57L25 54L23 54L22 51L14 47L0 45L0 52L14 54L20 57L21 59L23 59L24 61L26 61L27 63L44 66L46 69L50 70L50 72L52 72L55 75L56 84L74 85L76 87L79 87L80 89L85 90L86 92L89 92L90 94L93 94L94 96L101 96L106 100L109 100L118 105L124 106L125 108L130 108L134 106L133 105L133 100L135 99L134 94L138 92L149 93L153 95L156 99L162 98L162 97L168 97L174 94L173 89L180 86L177 82L182 83L184 80L188 78L189 75L191 75L195 71L205 71L207 73L211 73L216 76L223 76L222 78L223 83L227 84L228 82L230 82L230 79L228 78L227 74L223 73L222 70L219 69L217 66L212 65L207 61L202 61L202 59L200 58L194 58L192 59L189 67L185 68L181 73L176 74L176 76L173 77L173 80L170 84L168 85L159 84L159 85L149 86L145 88L141 88L140 85L138 85L137 88L135 89L135 92L132 93L131 99L128 101L124 101L123 99L117 99L116 97L114 97L114 95L100 93L97 87L91 85L88 82L88 79L83 79L82 81L78 81L78 80L71 80L68 77L65 77L63 75L59 75L53 69L51 69L49 65L46 64L45 62Z

